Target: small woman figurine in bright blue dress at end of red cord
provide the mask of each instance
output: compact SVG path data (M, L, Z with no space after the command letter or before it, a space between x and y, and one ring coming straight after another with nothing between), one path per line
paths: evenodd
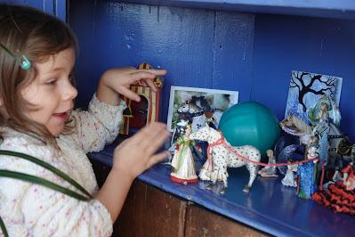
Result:
M297 194L300 198L311 199L311 195L316 191L316 174L317 167L315 164L319 159L318 152L318 139L315 136L311 136L311 143L306 149L307 159L316 159L313 162L303 163L298 167L298 185Z

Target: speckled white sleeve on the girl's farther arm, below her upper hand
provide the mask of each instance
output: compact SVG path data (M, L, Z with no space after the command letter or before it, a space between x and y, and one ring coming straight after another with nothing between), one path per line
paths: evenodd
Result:
M101 151L105 144L112 143L117 137L125 108L123 100L113 106L100 102L94 94L87 111L76 110L72 113L77 127L76 133L72 135L74 141L86 153Z

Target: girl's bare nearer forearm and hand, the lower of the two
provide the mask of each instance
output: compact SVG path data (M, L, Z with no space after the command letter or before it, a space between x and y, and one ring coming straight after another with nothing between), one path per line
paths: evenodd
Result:
M170 156L168 151L156 154L169 136L165 124L153 122L115 149L113 167L105 184L95 196L109 209L113 221L117 219L125 203L134 178Z

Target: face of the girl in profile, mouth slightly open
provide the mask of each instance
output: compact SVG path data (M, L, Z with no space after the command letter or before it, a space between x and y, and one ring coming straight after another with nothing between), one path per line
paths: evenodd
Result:
M63 131L73 110L73 99L77 97L77 89L70 82L74 63L72 48L50 56L48 61L36 63L37 77L20 92L31 104L25 115L44 125L53 136ZM34 110L31 110L32 105Z

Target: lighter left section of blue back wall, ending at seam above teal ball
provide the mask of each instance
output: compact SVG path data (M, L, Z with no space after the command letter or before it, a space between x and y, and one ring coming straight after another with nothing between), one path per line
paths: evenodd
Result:
M71 3L69 21L81 47L77 60L80 106L90 100L104 70L142 61L168 70L163 120L170 86L249 91L252 15L100 1ZM236 24L243 27L232 30ZM236 59L237 69L231 59ZM224 62L233 70L225 70ZM249 93L241 96L247 100Z

